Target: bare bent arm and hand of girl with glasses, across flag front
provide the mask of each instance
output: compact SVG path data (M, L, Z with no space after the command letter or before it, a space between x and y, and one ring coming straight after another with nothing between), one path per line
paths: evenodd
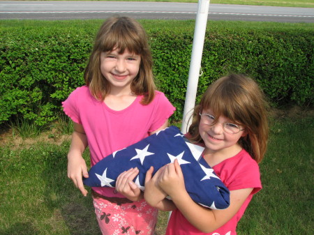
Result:
M224 210L211 210L195 203L184 185L184 176L177 160L165 167L161 174L158 185L167 195L170 195L172 202L181 211L184 217L197 229L204 233L213 232L229 221L244 204L253 188L230 191L230 206Z

